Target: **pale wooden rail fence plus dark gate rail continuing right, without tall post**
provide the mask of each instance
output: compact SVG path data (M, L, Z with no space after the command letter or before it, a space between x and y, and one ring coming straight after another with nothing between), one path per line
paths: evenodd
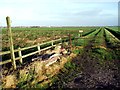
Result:
M30 46L30 47L24 47L24 48L20 48L19 47L18 49L14 50L14 55L15 55L16 52L18 53L18 57L15 57L15 61L19 60L19 62L22 64L23 63L23 58L29 57L29 56L37 54L37 53L40 54L41 51L48 50L48 49L50 49L52 47L55 47L57 44L62 44L62 42L69 42L70 43L70 40L72 40L72 38L73 37L68 37L68 39L66 39L66 38L60 38L60 39L56 39L56 40L51 40L51 41L48 41L48 42L44 42L44 43L41 43L41 44L38 43L38 44ZM80 38L81 39L82 38L83 39L88 39L87 37L76 37L74 39L80 39ZM56 42L56 44L55 44L55 42ZM44 48L41 49L42 45L47 45L47 44L49 44L49 46L46 46L46 47L44 47ZM34 51L34 52L31 52L31 53L22 55L22 51L29 50L29 49L32 49L32 48L37 48L37 50ZM0 55L2 56L2 55L10 54L10 53L11 53L10 51L5 51L5 52L0 52ZM10 63L10 62L12 62L11 59L5 60L5 61L0 62L0 65L7 64L7 63ZM15 65L16 65L16 63L15 63Z

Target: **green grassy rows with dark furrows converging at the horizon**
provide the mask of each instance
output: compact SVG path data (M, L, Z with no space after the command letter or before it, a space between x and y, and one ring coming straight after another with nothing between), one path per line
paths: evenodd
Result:
M83 46L83 45L88 45L88 43L91 43L91 45L94 45L94 46L106 47L106 43L107 45L110 43L109 46L112 47L115 45L118 46L120 44L120 40L113 33L111 33L108 29L104 27L96 29L84 37L85 38L80 38L77 41L79 42L79 44L77 45Z

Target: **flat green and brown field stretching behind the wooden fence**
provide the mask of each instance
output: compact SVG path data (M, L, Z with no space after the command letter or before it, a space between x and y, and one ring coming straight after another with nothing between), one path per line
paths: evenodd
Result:
M76 36L79 30L83 35L99 27L41 27L41 28L12 28L14 48L32 46L58 38L68 37L68 34ZM2 29L2 51L9 50L7 29Z

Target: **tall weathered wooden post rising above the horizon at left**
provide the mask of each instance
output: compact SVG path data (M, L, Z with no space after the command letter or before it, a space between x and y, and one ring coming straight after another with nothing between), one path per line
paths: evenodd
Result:
M11 60L12 60L13 68L16 69L14 46L13 46L13 39L12 39L12 32L11 32L11 21L10 21L10 17L8 17L8 16L6 17L6 23L7 23L9 42L10 42Z

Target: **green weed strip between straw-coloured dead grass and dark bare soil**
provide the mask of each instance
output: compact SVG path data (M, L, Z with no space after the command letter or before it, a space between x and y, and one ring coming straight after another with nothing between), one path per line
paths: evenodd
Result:
M77 67L76 64L73 61L68 61L65 65L64 68L61 69L60 73L56 75L55 81L51 85L51 89L54 88L64 88L65 85L72 81L74 77L77 75L78 70L80 72L80 67Z

